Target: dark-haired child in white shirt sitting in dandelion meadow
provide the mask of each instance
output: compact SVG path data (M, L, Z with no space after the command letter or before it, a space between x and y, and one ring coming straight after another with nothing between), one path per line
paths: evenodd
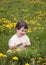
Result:
M21 49L24 50L26 47L30 46L29 37L26 35L28 26L24 21L19 21L16 24L16 34L14 34L9 40L9 48L13 49Z

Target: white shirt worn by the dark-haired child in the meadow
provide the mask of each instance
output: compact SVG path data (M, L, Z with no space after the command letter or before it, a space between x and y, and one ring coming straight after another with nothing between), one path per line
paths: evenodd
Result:
M19 46L18 48L23 49L26 44L30 44L29 37L27 35L23 35L21 37L18 37L17 34L14 34L11 37L11 39L9 40L8 45L9 45L9 47L10 46L14 47L20 43L23 43L23 44L21 46Z

